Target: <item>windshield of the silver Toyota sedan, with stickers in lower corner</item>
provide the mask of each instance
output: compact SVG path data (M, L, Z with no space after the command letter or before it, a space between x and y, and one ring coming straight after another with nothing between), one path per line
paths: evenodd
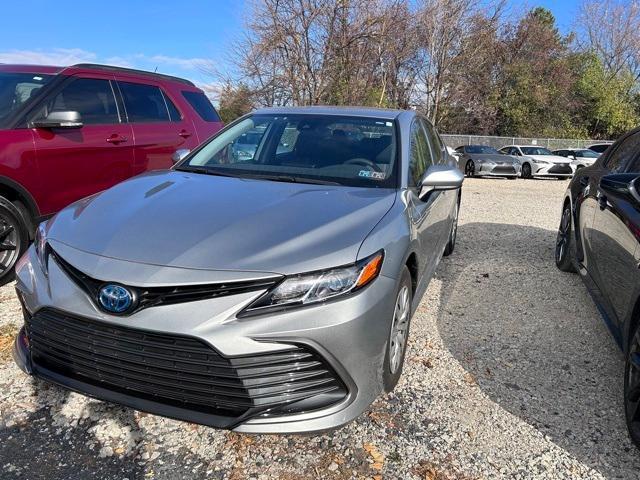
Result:
M177 170L299 183L396 186L392 121L337 115L252 115Z

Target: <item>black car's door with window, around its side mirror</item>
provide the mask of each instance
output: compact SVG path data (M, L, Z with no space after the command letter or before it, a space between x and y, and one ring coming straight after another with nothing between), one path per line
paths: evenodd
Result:
M639 154L640 132L637 132L616 147L606 159L605 168L593 178L597 207L590 239L591 270L602 293L602 306L614 322L625 319L630 313L638 271L635 260L638 232L632 226L640 224L640 213L637 200L625 192L605 189L602 184L612 174L640 175L640 165L636 161Z

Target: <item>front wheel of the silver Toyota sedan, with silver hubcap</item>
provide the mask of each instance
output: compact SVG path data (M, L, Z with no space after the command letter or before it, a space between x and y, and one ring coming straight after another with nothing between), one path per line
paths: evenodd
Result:
M407 353L409 327L411 325L412 302L411 274L409 273L409 269L404 266L400 276L400 284L396 290L393 318L390 322L389 338L385 346L384 372L382 374L385 392L391 392L397 385L398 380L400 380L400 375L402 375L404 356ZM401 330L401 332L398 330ZM398 347L399 350L396 350L396 347Z

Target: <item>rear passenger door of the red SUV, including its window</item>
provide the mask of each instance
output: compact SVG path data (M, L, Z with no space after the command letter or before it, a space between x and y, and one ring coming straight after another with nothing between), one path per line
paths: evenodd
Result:
M170 168L177 150L198 145L193 123L159 85L118 80L118 87L133 128L136 173Z

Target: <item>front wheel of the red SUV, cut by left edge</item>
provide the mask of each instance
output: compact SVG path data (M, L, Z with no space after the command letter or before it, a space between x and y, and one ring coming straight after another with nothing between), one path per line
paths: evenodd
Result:
M13 280L16 262L28 246L29 231L20 210L0 197L0 285Z

